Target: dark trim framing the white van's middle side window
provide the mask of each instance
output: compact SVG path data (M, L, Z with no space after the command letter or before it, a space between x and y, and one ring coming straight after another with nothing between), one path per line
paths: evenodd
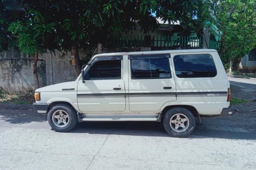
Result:
M146 56L154 56L154 55L168 55L168 57L146 57ZM133 55L135 56L135 55ZM137 55L136 55L137 56ZM130 70L131 70L131 79L132 80L152 80L152 79L172 79L172 68L171 68L171 64L170 64L170 58L171 58L171 55L169 53L163 53L163 54L142 54L140 55L138 58L136 59L131 59L132 55L128 55L128 60L130 60ZM168 59L168 65L169 65L169 68L170 68L170 77L155 77L155 78L133 78L132 77L132 60L137 60L137 59ZM151 69L150 69L150 72L151 72Z

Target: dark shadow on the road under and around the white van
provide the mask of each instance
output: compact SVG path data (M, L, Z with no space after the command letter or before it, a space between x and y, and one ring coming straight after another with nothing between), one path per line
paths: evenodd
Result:
M32 110L0 110L0 120L13 124L40 123L47 121L47 115ZM256 114L245 113L203 118L203 123L196 120L196 127L189 138L256 140L255 120ZM245 122L251 125L245 127ZM82 122L70 133L169 137L162 122Z

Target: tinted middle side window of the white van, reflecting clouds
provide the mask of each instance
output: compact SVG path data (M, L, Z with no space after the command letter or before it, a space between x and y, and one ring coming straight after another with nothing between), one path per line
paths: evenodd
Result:
M169 55L130 56L132 79L172 78Z

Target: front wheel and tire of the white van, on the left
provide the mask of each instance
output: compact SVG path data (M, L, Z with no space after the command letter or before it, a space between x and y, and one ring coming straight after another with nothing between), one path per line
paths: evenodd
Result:
M75 127L78 118L75 110L66 104L53 106L47 116L52 130L56 132L68 132Z

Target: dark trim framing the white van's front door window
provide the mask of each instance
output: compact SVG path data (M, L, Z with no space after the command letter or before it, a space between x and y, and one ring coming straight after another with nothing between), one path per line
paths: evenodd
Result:
M106 56L99 56L95 57L89 64L89 67L84 72L84 78L86 74L90 71L90 69L93 67L93 65L98 61L104 61L104 60L111 60L111 58L117 58L116 60L121 60L121 78L120 79L102 79L100 81L104 80L122 80L123 79L123 55L106 55ZM85 81L98 81L98 80L85 80Z

